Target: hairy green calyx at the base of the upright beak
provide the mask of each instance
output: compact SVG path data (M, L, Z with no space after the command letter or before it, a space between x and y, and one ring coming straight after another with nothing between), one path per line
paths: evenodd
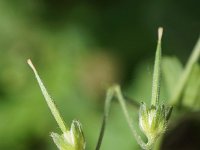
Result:
M166 131L171 110L171 108L166 108L164 105L152 105L151 108L147 108L145 103L140 105L139 125L148 141L156 140L158 136Z

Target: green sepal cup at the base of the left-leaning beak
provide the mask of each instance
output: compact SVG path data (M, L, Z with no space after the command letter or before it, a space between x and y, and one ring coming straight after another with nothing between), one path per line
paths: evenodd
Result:
M51 133L54 143L59 150L84 150L85 138L79 121L73 121L71 129L62 135Z

